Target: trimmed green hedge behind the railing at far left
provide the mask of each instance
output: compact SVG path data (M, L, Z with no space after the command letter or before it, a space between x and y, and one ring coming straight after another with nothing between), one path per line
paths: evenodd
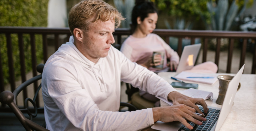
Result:
M0 26L47 26L49 0L1 0ZM15 78L20 76L20 52L18 35L11 34ZM32 70L29 34L23 34L26 72ZM42 35L35 35L37 62L43 58ZM0 34L0 53L3 66L4 83L9 82L8 56L5 34Z

